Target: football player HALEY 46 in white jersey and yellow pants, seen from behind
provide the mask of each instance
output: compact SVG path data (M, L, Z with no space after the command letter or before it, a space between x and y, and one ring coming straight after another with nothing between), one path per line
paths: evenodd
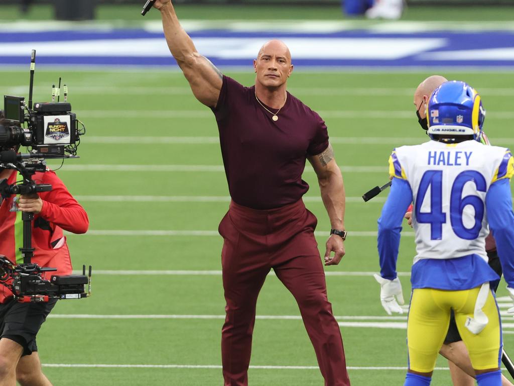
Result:
M500 316L489 287L499 276L487 264L485 237L490 226L514 299L514 158L508 149L480 144L485 111L468 84L443 83L426 112L431 141L390 157L393 183L378 220L380 299L388 313L402 312L396 258L402 216L413 202L417 254L405 385L430 384L453 310L479 386L500 386Z

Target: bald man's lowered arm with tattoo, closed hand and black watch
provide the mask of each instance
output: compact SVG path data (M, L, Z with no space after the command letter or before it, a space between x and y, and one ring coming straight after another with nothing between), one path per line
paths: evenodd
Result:
M318 176L321 191L321 199L330 218L332 229L344 230L345 194L341 170L334 159L332 145L328 144L322 153L308 157L314 171ZM334 252L334 257L331 257ZM326 242L325 265L339 264L344 256L343 239L337 235L331 235Z

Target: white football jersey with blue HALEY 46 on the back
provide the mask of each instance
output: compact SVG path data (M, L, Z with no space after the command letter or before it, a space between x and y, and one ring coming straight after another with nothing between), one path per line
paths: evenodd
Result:
M487 261L486 193L494 181L512 176L512 162L508 149L476 141L429 141L393 150L389 172L412 189L414 263L470 254Z

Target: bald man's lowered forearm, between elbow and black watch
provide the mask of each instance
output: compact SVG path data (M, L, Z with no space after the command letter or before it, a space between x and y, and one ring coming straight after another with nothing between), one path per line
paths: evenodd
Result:
M344 230L345 192L341 170L334 168L318 182L332 229Z

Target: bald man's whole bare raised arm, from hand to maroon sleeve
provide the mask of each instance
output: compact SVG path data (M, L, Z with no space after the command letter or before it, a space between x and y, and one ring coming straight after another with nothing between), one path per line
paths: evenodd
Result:
M157 0L154 7L161 12L166 42L194 96L206 106L216 107L223 84L222 73L209 59L198 54L193 41L180 25L170 0Z

